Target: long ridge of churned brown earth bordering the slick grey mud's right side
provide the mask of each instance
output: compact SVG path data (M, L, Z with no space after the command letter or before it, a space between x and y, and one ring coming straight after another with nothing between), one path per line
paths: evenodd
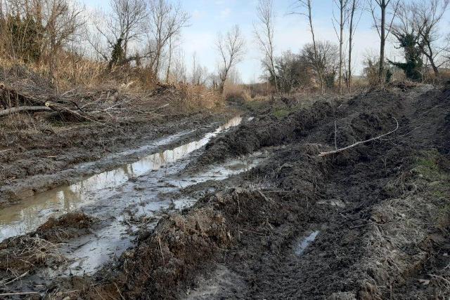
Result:
M260 190L226 189L205 196L193 210L162 219L149 238L122 255L122 280L115 281L123 287L122 294L131 299L173 298L214 259L227 256L230 248L257 238L265 240L257 252L267 247L280 249L286 235L292 238L297 232L295 226L284 226L285 219L294 224L309 219L304 207L311 203L304 198L314 199L320 182L320 172L313 172L319 163L319 150L304 146L301 153L296 168L307 172L303 172L305 184L297 193L300 198L282 200L277 196L274 200ZM312 176L307 179L307 174ZM250 257L257 252L236 255Z

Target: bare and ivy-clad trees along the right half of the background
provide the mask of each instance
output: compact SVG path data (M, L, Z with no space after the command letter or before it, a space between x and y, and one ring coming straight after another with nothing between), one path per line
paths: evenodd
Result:
M276 56L274 43L276 18L273 0L259 0L255 37L262 50L264 79L276 90L292 92L316 89L343 92L351 90L354 74L355 32L363 15L370 16L380 37L378 55L364 57L366 84L380 85L392 79L400 69L406 79L435 81L442 79L442 68L450 61L450 39L442 34L440 23L449 0L332 0L333 28L336 39L316 39L313 0L295 0L291 14L307 20L311 43L299 53L290 51ZM403 50L404 62L385 57L387 41ZM347 51L347 52L346 52Z

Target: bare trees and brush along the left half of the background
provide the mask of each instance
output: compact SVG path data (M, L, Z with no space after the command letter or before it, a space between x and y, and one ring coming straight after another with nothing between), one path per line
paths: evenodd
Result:
M104 76L218 90L226 81L240 82L235 67L245 43L239 27L218 34L220 63L212 73L195 53L184 57L181 34L190 22L181 3L169 0L110 0L108 13L70 0L0 0L0 62L37 67L56 85Z

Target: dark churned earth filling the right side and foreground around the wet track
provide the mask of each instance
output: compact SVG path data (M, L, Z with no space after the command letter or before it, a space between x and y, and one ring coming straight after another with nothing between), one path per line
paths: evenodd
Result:
M77 214L8 239L0 257L15 256L0 265L9 278L0 292L37 299L449 299L448 88L390 86L308 105L286 98L244 105L255 118L212 139L184 172L264 151L259 165L181 189L176 197L197 202L162 214L151 228L140 219L136 243L91 275L30 285L36 268L64 264L51 245L70 243L101 220ZM67 235L55 240L61 226ZM30 251L24 245L46 252L23 259Z

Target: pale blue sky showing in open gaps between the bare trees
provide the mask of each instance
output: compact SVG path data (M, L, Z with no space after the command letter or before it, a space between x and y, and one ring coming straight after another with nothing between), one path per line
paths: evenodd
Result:
M83 0L86 8L101 8L108 11L108 0ZM293 11L293 0L274 0L275 22L275 52L281 55L283 51L292 50L298 53L305 43L311 42L311 34L307 19L302 15L290 14ZM255 42L253 24L257 20L257 0L181 0L181 6L190 13L190 26L183 29L181 48L184 50L186 64L189 67L193 53L198 55L200 63L210 71L217 69L217 50L214 43L218 32L226 32L233 25L239 25L246 41L246 54L238 64L238 71L245 83L259 80L262 75L260 59L262 53ZM333 0L313 1L313 22L316 39L329 40L338 43L333 29ZM448 27L446 14L442 25ZM361 74L362 61L367 53L379 51L380 38L372 26L370 13L364 11L354 36L354 74ZM387 44L386 55L391 60L401 60L401 52L394 44Z

